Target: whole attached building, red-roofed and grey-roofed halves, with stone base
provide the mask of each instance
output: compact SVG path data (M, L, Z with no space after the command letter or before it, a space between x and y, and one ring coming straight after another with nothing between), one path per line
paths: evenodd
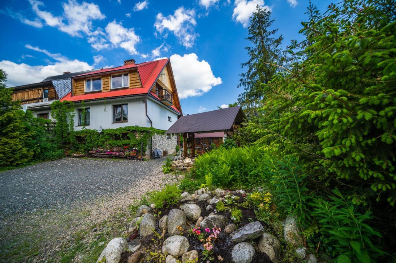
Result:
M51 118L55 100L74 103L74 130L100 130L126 126L167 130L182 116L179 96L169 58L84 72L52 76L41 83L14 88L34 116ZM177 135L154 135L151 149L175 152ZM148 150L148 148L147 148ZM147 154L147 157L150 154Z

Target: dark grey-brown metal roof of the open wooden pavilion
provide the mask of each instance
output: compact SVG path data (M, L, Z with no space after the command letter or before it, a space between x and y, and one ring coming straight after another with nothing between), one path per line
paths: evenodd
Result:
M208 132L230 130L241 124L245 114L241 106L181 116L166 133Z

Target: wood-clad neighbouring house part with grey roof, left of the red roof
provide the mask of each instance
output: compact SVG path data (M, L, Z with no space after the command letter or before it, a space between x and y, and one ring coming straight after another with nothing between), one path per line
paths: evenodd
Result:
M89 71L93 70L74 73L67 71L62 75L47 77L42 82L13 87L11 99L21 101L22 105L33 112L34 117L51 119L51 103L70 93L71 77Z

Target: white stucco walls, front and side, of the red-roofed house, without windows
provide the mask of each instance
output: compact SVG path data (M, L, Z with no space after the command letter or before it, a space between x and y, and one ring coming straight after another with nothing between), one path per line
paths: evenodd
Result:
M168 130L168 128L175 123L177 115L167 107L162 106L162 103L156 103L150 98L147 98L147 114L152 120L153 127L160 130ZM99 101L86 101L84 108L89 108L89 125L85 128L91 130L119 128L125 126L141 126L150 127L150 121L146 117L145 97L122 98L113 100L99 100ZM128 122L113 123L113 110L114 105L128 104ZM82 109L81 103L75 103L75 117L74 117L74 130L81 130L83 126L78 126L78 109ZM171 122L168 121L168 116L171 117Z

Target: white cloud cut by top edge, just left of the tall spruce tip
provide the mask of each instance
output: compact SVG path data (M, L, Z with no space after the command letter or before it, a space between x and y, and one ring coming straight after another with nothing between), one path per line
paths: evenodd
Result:
M249 17L253 12L256 11L256 6L259 5L261 8L271 10L269 6L264 5L263 0L235 0L235 8L232 13L232 19L240 22L244 27L249 24Z

